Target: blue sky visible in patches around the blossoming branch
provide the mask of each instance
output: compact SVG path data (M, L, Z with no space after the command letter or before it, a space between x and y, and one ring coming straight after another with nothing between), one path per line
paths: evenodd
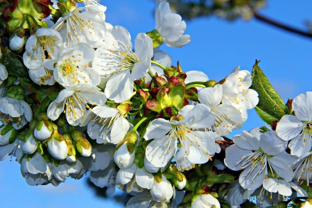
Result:
M128 29L132 40L137 33L155 28L152 0L105 1L106 21ZM304 28L304 19L312 19L312 1L269 1L260 12L286 24ZM218 17L187 21L187 34L191 43L181 49L162 46L173 58L180 61L184 71L198 70L210 79L225 78L234 67L252 70L256 59L281 98L294 98L312 91L312 40L281 31L255 19L233 22ZM263 125L254 110L249 111L248 121L241 130ZM237 130L234 134L239 134ZM87 177L85 177L87 178ZM17 162L0 162L1 207L122 207L110 200L97 198L86 186L85 179L71 180L44 187L30 187L24 181Z

